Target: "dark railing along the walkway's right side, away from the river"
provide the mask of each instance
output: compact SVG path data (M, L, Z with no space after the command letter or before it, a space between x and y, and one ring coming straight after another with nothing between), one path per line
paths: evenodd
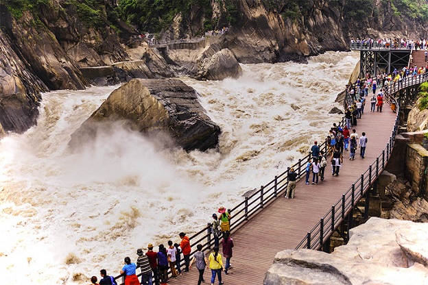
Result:
M389 142L382 153L376 158L376 161L370 164L368 169L362 173L357 181L342 195L342 198L331 206L331 210L329 210L312 230L307 233L296 249L320 249L326 238L329 238L329 236L333 234L340 223L344 221L345 217L354 208L356 203L364 197L366 192L370 189L370 186L372 186L383 169L385 169L392 154L392 148L394 147L397 130L399 128L399 112L401 108L394 95L402 88L426 82L427 79L428 75L425 73L424 75L417 75L417 77L407 77L405 82L401 82L400 84L396 84L397 82L395 82L394 84L385 86L385 101L395 103L397 108Z

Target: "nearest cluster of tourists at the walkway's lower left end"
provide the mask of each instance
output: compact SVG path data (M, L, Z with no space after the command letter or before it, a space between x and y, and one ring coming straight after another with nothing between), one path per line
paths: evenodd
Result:
M233 239L230 237L230 219L232 216L226 211L226 208L220 207L217 213L212 215L211 233L214 237L214 248L206 258L202 245L197 245L197 251L191 256L191 244L189 237L181 232L180 243L173 243L168 240L167 246L158 245L158 251L154 251L154 245L149 243L147 251L143 249L136 250L136 262L132 262L130 257L124 259L124 265L120 270L123 275L125 285L156 284L166 285L169 278L177 278L183 273L189 272L193 264L198 269L198 285L205 282L204 271L211 269L211 284L214 284L217 278L218 284L223 284L222 272L228 275L232 265L230 258L233 256ZM221 241L220 241L221 239ZM223 257L219 253L219 245L222 245L223 257L226 258L223 264ZM181 258L182 257L182 258ZM184 261L182 264L181 260ZM184 269L182 269L184 265ZM137 277L137 269L141 269L141 281ZM169 275L170 274L170 275ZM98 282L97 276L91 277L91 284L95 285L117 285L114 277L107 275L106 269L99 271L101 280Z

